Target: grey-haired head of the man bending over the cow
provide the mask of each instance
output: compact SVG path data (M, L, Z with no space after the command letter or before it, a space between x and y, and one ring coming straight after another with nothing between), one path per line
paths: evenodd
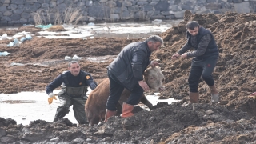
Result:
M160 38L158 35L150 36L149 38L146 39L146 42L151 52L155 50L159 50L160 46L163 44L162 38Z

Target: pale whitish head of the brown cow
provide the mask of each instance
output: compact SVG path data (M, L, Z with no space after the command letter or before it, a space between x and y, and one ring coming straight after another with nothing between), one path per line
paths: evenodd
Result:
M164 78L160 67L156 66L154 68L147 68L144 72L144 80L148 86L154 91L165 90L165 87L162 86L162 80Z

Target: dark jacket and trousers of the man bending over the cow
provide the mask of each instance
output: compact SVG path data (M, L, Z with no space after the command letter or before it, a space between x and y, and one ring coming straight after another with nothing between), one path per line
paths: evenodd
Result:
M114 111L126 88L131 94L127 104L137 105L142 97L143 89L138 81L143 80L143 72L150 64L151 51L147 42L133 42L125 46L118 57L108 66L110 79L110 96L106 102L106 109Z

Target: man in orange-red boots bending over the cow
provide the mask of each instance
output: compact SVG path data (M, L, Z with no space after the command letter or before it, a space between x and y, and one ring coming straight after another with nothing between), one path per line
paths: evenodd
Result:
M107 67L110 96L106 102L105 122L116 114L116 106L124 88L130 90L131 94L127 102L122 104L121 116L124 118L133 115L134 105L138 104L143 91L150 89L143 81L143 72L149 65L152 67L158 65L158 62L150 61L150 54L159 50L162 44L162 38L157 35L150 36L144 42L130 43Z

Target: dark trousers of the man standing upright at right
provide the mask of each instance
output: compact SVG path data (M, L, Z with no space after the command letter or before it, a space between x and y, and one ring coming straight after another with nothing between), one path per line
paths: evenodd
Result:
M198 92L199 80L202 79L208 86L214 86L214 78L212 73L216 66L218 55L214 55L204 59L193 58L189 76L190 92Z

